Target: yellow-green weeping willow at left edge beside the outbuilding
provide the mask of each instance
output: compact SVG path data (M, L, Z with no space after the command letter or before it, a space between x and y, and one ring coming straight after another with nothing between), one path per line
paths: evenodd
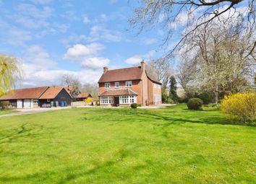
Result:
M15 82L22 79L17 58L0 54L0 96L14 87Z

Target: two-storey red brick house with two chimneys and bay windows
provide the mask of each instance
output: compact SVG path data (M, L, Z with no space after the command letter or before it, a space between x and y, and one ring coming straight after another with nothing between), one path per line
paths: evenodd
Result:
M161 82L149 76L142 61L138 67L108 70L98 81L100 105L161 104Z

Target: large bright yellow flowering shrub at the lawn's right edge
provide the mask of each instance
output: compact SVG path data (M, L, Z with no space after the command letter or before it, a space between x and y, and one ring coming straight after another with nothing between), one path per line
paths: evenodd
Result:
M221 102L221 110L231 118L254 121L256 119L256 92L236 93L225 96Z

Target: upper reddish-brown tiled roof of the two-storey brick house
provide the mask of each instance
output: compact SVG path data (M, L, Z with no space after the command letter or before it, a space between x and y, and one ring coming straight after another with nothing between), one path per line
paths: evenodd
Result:
M102 74L101 79L98 81L98 83L142 79L142 73L143 69L141 69L140 66L125 69L108 70L106 71L106 73ZM152 76L149 76L148 74L147 76L148 79L150 79L151 81L161 84L161 82L158 82L158 80L154 79Z

